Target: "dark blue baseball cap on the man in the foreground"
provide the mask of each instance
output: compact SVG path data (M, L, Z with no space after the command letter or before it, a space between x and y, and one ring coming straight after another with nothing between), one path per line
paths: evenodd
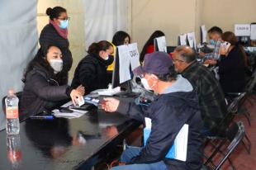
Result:
M167 53L154 52L145 54L144 63L142 66L135 68L135 75L141 75L144 73L155 73L163 75L169 73L169 68L174 67L173 60Z

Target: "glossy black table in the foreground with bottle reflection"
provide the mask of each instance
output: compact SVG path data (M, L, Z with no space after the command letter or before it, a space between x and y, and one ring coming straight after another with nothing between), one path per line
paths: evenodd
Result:
M90 169L139 125L97 109L75 119L29 119L21 122L17 160L7 153L6 131L0 132L0 169Z

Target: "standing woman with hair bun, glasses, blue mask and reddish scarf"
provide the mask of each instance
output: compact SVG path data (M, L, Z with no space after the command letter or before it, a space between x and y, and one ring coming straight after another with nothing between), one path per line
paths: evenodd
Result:
M60 72L61 85L68 83L68 72L72 66L73 59L69 50L68 26L69 17L63 7L47 8L46 14L50 17L47 24L40 33L40 46L57 45L63 54L63 70Z

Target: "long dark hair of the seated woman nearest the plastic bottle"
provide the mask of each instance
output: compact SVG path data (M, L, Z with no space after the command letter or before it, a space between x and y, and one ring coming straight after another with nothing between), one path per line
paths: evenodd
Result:
M49 62L46 60L48 51L52 46L56 46L56 45L45 45L40 47L40 49L37 51L35 58L32 59L31 62L26 67L24 76L22 78L22 81L24 83L26 82L27 73L29 73L36 65L40 65L44 67L48 71L48 73L50 73L50 76L55 78L54 69L50 66Z

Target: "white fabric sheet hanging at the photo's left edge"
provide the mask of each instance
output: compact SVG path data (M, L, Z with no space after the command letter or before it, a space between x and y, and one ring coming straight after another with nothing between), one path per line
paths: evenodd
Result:
M2 0L0 5L0 99L12 87L22 89L26 64L36 54L36 0ZM0 106L0 128L5 116Z

